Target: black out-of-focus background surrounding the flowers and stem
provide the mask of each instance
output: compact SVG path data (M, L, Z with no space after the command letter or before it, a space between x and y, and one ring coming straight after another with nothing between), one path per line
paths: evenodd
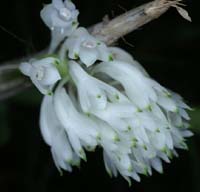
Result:
M74 0L80 23L90 26L105 14L112 18L140 5L144 0ZM27 56L48 45L48 29L40 20L43 0L4 0L0 4L0 61ZM189 151L164 164L164 174L154 172L133 182L131 188L120 176L107 175L101 150L88 153L81 169L63 176L54 166L49 147L41 138L38 117L40 94L29 89L0 102L0 191L1 192L200 192L200 1L185 1L193 22L181 18L175 9L125 37L118 46L131 52L151 76L180 93L192 112L195 136ZM6 32L7 31L7 32Z

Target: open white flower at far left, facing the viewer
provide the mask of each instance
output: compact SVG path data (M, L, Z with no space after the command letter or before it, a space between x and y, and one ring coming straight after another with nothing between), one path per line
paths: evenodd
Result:
M51 94L54 84L61 79L61 76L55 67L58 59L48 57L41 60L30 60L20 64L20 71L29 76L33 84L43 94Z

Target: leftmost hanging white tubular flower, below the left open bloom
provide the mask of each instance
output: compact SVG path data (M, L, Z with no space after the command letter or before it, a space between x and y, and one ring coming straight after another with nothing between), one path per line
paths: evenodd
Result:
M71 165L78 165L79 158L69 144L67 134L56 117L53 97L45 96L40 112L40 128L45 142L51 147L57 168L71 171Z

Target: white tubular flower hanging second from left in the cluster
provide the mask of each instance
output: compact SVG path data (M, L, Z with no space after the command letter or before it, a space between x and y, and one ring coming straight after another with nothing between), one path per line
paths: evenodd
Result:
M54 108L60 124L68 134L73 150L80 158L86 159L83 147L94 149L99 138L96 123L87 115L78 112L62 86L55 92Z

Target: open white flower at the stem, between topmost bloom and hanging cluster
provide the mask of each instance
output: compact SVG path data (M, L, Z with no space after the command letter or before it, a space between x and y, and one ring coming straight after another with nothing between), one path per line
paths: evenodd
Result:
M83 27L76 29L66 40L63 50L61 50L62 56L66 54L67 50L69 51L69 58L80 58L86 66L94 64L97 60L113 60L106 45L91 36Z

